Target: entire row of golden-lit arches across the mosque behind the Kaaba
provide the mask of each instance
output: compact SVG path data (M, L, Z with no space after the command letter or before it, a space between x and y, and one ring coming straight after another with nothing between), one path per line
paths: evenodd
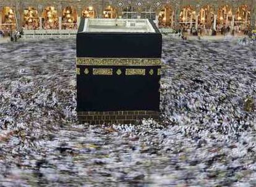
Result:
M139 14L140 12L140 14ZM122 9L122 18L150 18L155 20L158 18L160 27L171 27L174 25L182 28L191 28L196 25L203 25L205 28L212 28L214 22L216 27L221 26L243 26L244 28L250 25L251 12L247 5L239 6L237 10L232 10L228 5L221 6L216 14L213 7L203 6L197 13L194 6L185 6L181 9L180 14L176 14L176 10L171 6L164 6L156 15L155 8L151 6L142 7L140 11L137 7L127 6ZM197 15L196 15L197 14ZM216 14L216 15L215 15ZM233 15L234 14L234 15ZM103 18L116 18L117 11L114 7L108 6L102 12ZM38 14L35 7L27 7L23 10L22 26L27 30L36 29L75 29L79 17L96 18L99 17L98 12L92 7L84 7L81 15L77 14L74 7L68 6L62 9L61 17L54 6L49 6L43 9L42 15ZM41 19L41 20L40 20ZM215 20L216 19L216 20ZM0 25L3 28L15 28L17 18L14 9L4 7L1 11ZM61 26L60 26L61 23Z

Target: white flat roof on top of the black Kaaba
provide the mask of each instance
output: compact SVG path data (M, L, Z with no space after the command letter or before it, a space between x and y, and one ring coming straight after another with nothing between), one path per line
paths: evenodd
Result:
M85 19L83 33L155 33L148 19Z

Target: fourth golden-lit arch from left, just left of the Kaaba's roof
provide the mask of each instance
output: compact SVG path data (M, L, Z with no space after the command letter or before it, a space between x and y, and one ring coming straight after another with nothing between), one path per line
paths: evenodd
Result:
M61 29L77 29L77 10L67 6L62 10Z

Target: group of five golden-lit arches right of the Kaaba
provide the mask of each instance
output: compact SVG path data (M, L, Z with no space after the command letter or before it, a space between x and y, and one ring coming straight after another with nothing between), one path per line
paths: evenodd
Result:
M175 9L172 9L171 6L163 7L158 17L159 26L173 28L176 16ZM212 6L206 5L199 9L197 13L195 7L185 6L178 16L179 26L185 28L185 30L193 26L203 26L205 29L214 27L216 30L231 27L236 31L249 28L250 18L252 17L247 5L241 5L236 10L224 5L219 7L216 12Z

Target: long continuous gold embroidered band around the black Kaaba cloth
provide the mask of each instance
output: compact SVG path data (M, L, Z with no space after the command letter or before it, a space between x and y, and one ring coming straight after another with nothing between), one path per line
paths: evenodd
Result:
M160 58L85 58L77 57L77 65L87 66L161 66Z

